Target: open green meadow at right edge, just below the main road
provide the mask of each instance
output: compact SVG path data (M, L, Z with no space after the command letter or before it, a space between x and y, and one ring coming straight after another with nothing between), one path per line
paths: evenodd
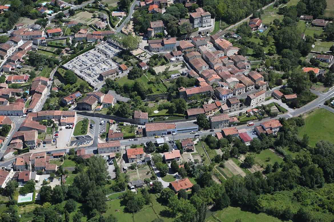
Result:
M298 135L302 137L305 133L309 136L309 145L314 146L319 140L334 142L332 133L334 124L334 113L317 109L305 118L305 125L302 126Z

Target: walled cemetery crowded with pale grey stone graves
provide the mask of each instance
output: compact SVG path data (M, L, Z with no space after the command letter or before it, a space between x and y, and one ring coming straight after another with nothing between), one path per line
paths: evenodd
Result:
M72 70L79 77L85 79L92 86L98 86L102 82L99 79L100 73L111 69L117 69L118 65L111 58L120 51L107 42L99 45L82 55L75 57L64 65Z

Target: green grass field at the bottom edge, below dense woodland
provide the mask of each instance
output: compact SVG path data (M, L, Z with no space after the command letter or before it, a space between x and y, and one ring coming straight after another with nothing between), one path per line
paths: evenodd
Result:
M242 219L242 221L245 219L244 221L247 222L281 221L280 219L269 216L265 213L252 213L249 211L243 211L239 207L227 207L223 210L216 211L214 212L213 216L209 217L206 221L218 221L214 217L224 222L234 222L236 219Z

